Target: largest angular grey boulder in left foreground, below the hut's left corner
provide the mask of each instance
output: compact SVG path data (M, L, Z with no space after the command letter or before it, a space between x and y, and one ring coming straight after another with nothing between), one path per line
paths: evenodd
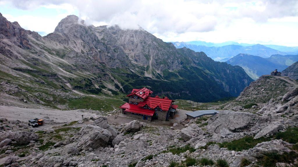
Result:
M85 150L108 146L114 139L110 131L96 125L85 125L79 133L77 146Z

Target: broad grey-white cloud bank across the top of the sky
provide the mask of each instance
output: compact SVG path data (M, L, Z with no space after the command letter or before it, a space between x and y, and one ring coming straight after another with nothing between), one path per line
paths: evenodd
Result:
M30 10L39 6L70 4L87 22L118 24L126 29L140 25L152 33L213 31L219 23L251 18L266 22L270 18L296 16L297 0L12 0L15 7ZM24 5L26 4L26 5Z

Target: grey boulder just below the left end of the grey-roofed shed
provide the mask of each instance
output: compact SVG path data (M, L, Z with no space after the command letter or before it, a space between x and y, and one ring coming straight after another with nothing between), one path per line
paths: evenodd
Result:
M179 135L184 141L189 141L191 138L198 137L203 133L203 130L197 124L191 124L180 130Z

